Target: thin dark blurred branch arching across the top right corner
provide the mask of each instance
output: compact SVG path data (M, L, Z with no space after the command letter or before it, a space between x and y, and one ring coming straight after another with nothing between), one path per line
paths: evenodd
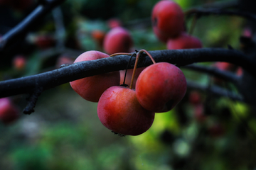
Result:
M186 13L186 16L190 16L191 14L196 14L198 17L208 16L208 15L240 16L256 22L256 15L253 13L248 13L246 11L220 10L218 8L214 8L214 9L193 8L186 11L185 13Z

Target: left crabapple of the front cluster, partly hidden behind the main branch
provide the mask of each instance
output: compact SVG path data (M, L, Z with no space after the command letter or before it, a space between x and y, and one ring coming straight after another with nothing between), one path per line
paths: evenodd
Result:
M103 52L87 51L78 56L75 62L97 60L107 57L109 57L109 55ZM119 82L119 72L110 72L71 81L70 85L74 91L82 96L82 98L85 98L85 100L97 102L106 89L110 88L110 86L118 86Z

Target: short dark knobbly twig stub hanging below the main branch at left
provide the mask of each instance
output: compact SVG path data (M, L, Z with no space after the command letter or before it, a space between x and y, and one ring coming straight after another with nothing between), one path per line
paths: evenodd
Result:
M41 95L42 92L43 92L43 88L38 87L33 91L32 94L30 94L30 96L27 98L28 104L26 108L24 108L23 110L24 114L30 115L31 113L34 112L33 108L35 108L36 102L38 101L38 97Z

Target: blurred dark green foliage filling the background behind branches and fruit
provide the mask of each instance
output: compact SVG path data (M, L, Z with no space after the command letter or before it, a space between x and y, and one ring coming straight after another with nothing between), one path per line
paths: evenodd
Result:
M86 50L102 50L91 33L93 30L107 33L110 18L119 18L129 29L134 49L165 50L166 45L157 40L149 20L156 1L65 1L60 6L65 25L65 47L74 51L64 55L74 60ZM176 2L185 11L213 1ZM17 13L9 8L1 11L0 34L15 26L29 11L31 9ZM60 53L54 47L40 49L34 40L37 35L46 33L58 40L51 14L27 36L25 48L17 48L4 64L1 63L0 80L59 67L56 62ZM4 25L6 18L10 22ZM191 21L192 18L186 19L188 29ZM235 16L202 16L196 22L193 35L201 39L203 47L227 48L231 45L239 49L244 25L245 21ZM23 70L15 69L11 63L18 54L27 59ZM188 69L183 72L187 79L199 84L212 82L206 74ZM232 86L228 82L223 84ZM97 103L80 98L69 84L50 89L40 96L35 113L23 115L13 125L0 124L0 169L256 169L256 119L250 106L201 93L206 116L201 122L195 116L196 106L189 101L190 93L188 89L174 110L156 113L152 127L144 134L119 137L98 120ZM12 96L20 108L26 106L25 98L23 95Z

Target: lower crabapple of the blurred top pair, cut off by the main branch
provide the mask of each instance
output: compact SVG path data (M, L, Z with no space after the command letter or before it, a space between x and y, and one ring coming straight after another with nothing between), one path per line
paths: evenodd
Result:
M191 35L188 35L187 33L181 33L181 35L179 35L178 37L174 39L169 39L166 46L169 50L203 47L201 40Z

